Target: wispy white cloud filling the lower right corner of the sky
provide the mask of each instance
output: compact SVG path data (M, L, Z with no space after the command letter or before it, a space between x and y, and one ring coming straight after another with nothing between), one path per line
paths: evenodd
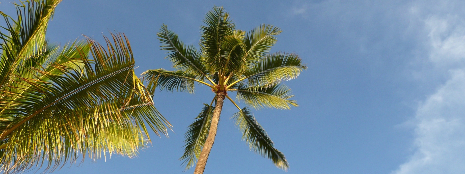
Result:
M394 173L465 173L465 71L451 71L451 79L418 108L415 120L417 150Z

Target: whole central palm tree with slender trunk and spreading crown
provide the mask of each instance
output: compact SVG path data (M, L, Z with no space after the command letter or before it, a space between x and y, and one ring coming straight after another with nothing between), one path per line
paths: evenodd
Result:
M176 71L164 69L143 73L147 88L153 92L178 90L193 93L194 83L205 84L215 93L210 104L204 103L199 116L186 133L184 160L186 169L197 161L194 174L202 174L215 140L219 116L224 99L230 100L239 112L234 114L236 124L243 132L243 139L256 153L273 161L286 170L289 165L283 153L252 116L249 108L240 108L228 92L237 92L236 99L254 109L290 109L298 106L291 100L291 90L282 81L296 78L306 66L297 54L269 50L276 43L281 30L271 25L261 25L250 32L237 30L223 7L213 7L206 14L206 26L201 26L200 51L186 46L178 35L163 25L158 33L162 50ZM213 103L215 105L213 106Z

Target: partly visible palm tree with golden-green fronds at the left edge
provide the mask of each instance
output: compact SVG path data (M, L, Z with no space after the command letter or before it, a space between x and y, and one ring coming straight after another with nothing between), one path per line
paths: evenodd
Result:
M105 47L87 37L49 44L60 1L14 3L17 19L0 12L0 173L53 171L81 155L133 157L150 140L146 126L171 126L135 76L126 36L112 33Z

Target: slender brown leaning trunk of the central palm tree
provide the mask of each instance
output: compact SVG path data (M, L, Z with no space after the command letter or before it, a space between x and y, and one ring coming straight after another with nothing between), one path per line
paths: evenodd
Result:
M215 110L213 111L212 124L210 125L210 131L208 132L208 137L206 138L205 145L202 148L202 152L199 156L199 161L195 166L194 174L203 174L205 170L206 160L208 160L208 155L210 155L210 150L212 150L213 142L215 142L216 130L218 129L219 115L221 114L221 109L223 108L223 101L226 97L226 91L218 91L216 94L216 105Z

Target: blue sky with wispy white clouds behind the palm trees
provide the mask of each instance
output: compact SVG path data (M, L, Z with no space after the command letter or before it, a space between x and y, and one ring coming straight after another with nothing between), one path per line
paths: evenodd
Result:
M9 1L0 0L0 10L13 15ZM299 107L254 111L286 155L287 174L465 173L465 1L64 0L47 37L63 45L81 34L102 41L102 32L124 32L137 73L171 69L160 26L197 45L213 5L241 30L279 26L272 52L307 63L286 83ZM86 160L54 174L182 173L186 128L212 98L205 87L157 92L155 106L174 126L170 138L152 136L153 146L134 159ZM235 112L225 102L205 174L286 174L249 151L229 119Z

